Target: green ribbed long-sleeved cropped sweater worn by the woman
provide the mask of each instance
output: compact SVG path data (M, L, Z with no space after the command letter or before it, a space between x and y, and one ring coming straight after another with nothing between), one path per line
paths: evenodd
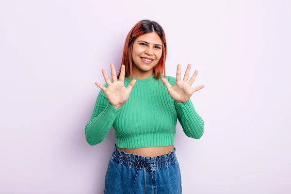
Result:
M100 90L85 126L86 141L92 146L101 143L113 126L117 147L172 146L177 118L188 137L199 139L204 132L204 121L196 113L191 99L184 103L174 101L161 78L157 81L153 74L144 80L134 79L136 82L129 99L118 109ZM176 78L166 76L166 79L175 85ZM130 77L125 78L125 87L129 82Z

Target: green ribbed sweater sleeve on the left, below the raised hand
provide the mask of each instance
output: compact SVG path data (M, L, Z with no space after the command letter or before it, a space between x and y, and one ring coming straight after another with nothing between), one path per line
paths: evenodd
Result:
M107 87L107 83L103 86ZM112 106L104 91L100 90L92 116L85 126L86 141L91 146L97 145L105 140L116 116L120 113L122 108L123 107L117 109Z

